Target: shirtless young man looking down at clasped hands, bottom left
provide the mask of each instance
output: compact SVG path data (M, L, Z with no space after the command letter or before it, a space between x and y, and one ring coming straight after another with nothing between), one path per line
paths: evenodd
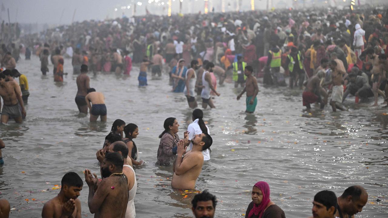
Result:
M43 206L42 218L81 218L81 201L78 199L83 182L77 173L68 172L62 177L61 191Z

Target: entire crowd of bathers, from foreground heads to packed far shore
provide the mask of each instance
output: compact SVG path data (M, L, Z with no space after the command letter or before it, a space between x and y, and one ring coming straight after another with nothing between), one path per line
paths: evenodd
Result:
M203 109L215 108L212 95L220 96L217 77L218 85L225 81L234 83L235 88L243 87L237 100L246 93L248 113L253 113L257 105L256 78L278 87L287 86L289 77L290 89L305 87L302 102L308 110L315 102L321 109L329 102L333 111L346 110L343 102L348 94L355 95L356 103L359 98L373 97L373 106L378 106L378 96L383 97L384 104L388 96L387 28L388 10L365 7L356 11L148 15L76 22L20 37L2 32L0 122L14 119L22 123L26 117L28 80L16 69L21 53L27 60L31 54L39 57L43 75L50 71L51 62L55 82L63 81L65 60L71 59L73 74L77 75L75 102L81 113L90 112L91 122L99 117L106 121L107 107L104 94L90 87L87 73L105 71L131 76L133 65L139 66L139 87L147 86L149 71L154 79L165 72L171 91L183 93L193 109L197 107L197 95ZM14 79L17 77L19 83ZM159 135L156 164L173 165L173 189L194 189L204 161L210 159L213 140L203 121L203 111L195 109L192 121L182 139L173 117L165 119ZM102 179L85 170L88 207L95 217L135 217L137 182L133 165L144 163L133 142L137 135L137 125L116 120L96 154ZM2 164L1 149L5 145L0 142ZM58 196L43 207L42 217L81 216L77 197L82 179L69 172L61 185ZM196 217L213 217L216 202L215 196L204 191L194 197L192 211ZM362 211L366 202L367 192L360 186L349 187L338 198L334 192L324 190L315 195L312 213L313 217L350 218ZM6 208L6 203L0 201L0 211ZM253 186L245 217L285 217L282 209L270 201L267 182Z

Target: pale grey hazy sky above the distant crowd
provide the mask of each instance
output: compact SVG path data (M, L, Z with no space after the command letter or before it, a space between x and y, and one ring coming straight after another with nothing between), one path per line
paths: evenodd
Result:
M48 24L69 24L73 17L74 9L76 14L74 21L84 21L90 19L105 19L121 17L125 12L126 16L132 16L133 5L137 2L142 2L142 5L136 6L136 14L145 14L145 6L152 14L167 14L168 0L153 0L158 3L164 2L164 5L158 6L158 3L148 3L149 0L2 0L5 9L9 8L11 22L22 23L48 23ZM222 0L209 0L209 4L213 3L216 12L221 10ZM235 10L237 0L224 0L225 10ZM250 10L250 0L241 0L242 10ZM272 2L279 2L281 0L272 0ZM283 0L284 2L290 2L290 0ZM264 9L266 0L255 0L256 9ZM123 6L130 5L130 9L121 9ZM203 12L204 0L183 0L182 12ZM118 10L115 12L115 8ZM1 18L8 22L7 11L1 12ZM62 19L61 14L64 10ZM177 13L179 10L179 0L172 2L172 11ZM17 12L17 17L16 17Z

